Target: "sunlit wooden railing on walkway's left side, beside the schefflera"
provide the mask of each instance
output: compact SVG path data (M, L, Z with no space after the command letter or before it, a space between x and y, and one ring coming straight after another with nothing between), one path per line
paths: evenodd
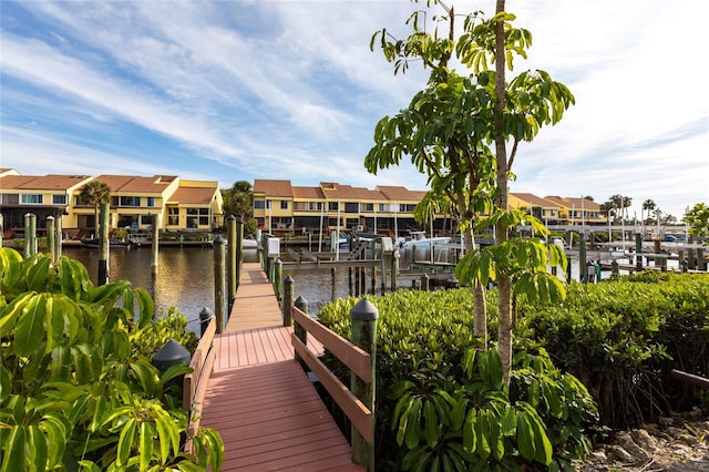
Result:
M199 338L197 349L189 361L189 367L193 371L185 374L183 380L183 409L187 411L188 414L187 442L185 443L185 452L187 453L194 452L194 445L189 438L199 431L202 407L207 393L209 374L212 373L216 358L216 352L212 349L216 328L216 317L213 316Z

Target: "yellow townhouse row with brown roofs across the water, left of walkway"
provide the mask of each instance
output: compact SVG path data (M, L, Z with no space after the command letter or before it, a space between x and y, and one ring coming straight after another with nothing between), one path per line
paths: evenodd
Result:
M82 187L91 182L111 188L109 226L132 233L148 233L160 215L163 230L213 230L223 225L223 201L216 181L183 181L177 176L154 175L20 175L0 170L0 209L4 237L24 227L24 215L37 216L38 233L49 216L62 216L68 237L92 236L95 208L81 198Z

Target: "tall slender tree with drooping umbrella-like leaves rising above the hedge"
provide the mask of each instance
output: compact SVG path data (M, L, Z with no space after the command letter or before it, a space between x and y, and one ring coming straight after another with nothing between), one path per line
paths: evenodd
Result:
M477 13L466 16L458 41L453 8L438 4L444 14L435 19L448 27L443 37L438 35L438 29L428 32L428 11L417 11L409 21L413 32L405 40L391 37L387 30L372 38L373 48L381 37L382 51L388 61L394 62L394 73L405 72L409 61L417 60L431 74L427 88L414 95L407 109L379 121L364 165L376 173L399 165L408 156L419 172L428 175L428 199L448 199L455 206L469 250L456 275L475 287L476 334L486 332L482 286L489 280L497 281L499 311L505 322L499 330L499 348L507 378L513 278L518 283L515 293L533 297L541 293L563 294L559 280L546 274L547 254L555 265L563 259L561 250L551 248L547 253L538 240L507 242L511 228L525 218L537 234L546 232L541 222L507 209L507 179L520 141L532 141L542 126L561 120L574 98L544 71L523 72L508 84L505 82L505 66L512 70L513 54L526 57L532 35L527 30L512 28L515 17L504 12L504 1L497 2L497 12L490 20ZM473 73L458 74L451 69L453 54ZM493 62L495 71L487 66ZM507 141L512 143L508 156ZM493 142L494 153L489 146ZM481 218L481 214L489 217ZM495 249L474 247L474 223L476 228L495 227ZM537 291L538 287L544 288Z

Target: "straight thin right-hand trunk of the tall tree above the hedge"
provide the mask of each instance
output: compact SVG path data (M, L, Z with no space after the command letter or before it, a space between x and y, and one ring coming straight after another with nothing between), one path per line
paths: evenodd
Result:
M505 10L505 0L497 0L495 13ZM507 151L504 136L505 111L505 32L504 23L495 24L495 161L497 198L496 206L507 209ZM495 244L507 240L507 228L502 224L495 225ZM497 351L502 361L505 384L510 386L510 370L512 367L512 281L504 270L497 275L497 311L500 327L497 330Z

